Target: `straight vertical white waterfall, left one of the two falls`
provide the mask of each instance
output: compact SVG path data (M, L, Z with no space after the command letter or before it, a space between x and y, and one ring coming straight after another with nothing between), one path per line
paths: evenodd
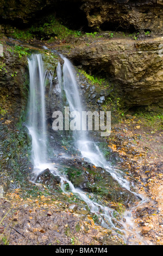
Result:
M40 54L28 58L30 93L27 127L32 137L34 169L42 169L47 160L45 83L46 74Z

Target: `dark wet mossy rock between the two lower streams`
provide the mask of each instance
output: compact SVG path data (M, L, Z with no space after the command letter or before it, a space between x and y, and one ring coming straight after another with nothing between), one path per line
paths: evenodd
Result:
M80 161L77 166L74 162L72 164L73 166L67 168L66 174L75 187L91 192L108 202L121 202L127 208L128 204L136 200L135 195L121 187L104 168L95 167L86 162L82 167Z

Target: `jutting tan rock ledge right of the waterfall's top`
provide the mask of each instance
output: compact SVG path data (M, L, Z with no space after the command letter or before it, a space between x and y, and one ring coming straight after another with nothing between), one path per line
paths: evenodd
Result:
M163 99L162 38L136 41L99 39L80 44L67 54L89 72L104 71L117 85L128 106L150 105Z

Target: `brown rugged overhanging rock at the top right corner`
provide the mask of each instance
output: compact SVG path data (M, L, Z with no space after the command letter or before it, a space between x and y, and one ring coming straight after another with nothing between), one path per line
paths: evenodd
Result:
M115 0L87 1L81 7L90 27L101 27L105 30L139 32L147 29L162 33L162 1L156 0Z

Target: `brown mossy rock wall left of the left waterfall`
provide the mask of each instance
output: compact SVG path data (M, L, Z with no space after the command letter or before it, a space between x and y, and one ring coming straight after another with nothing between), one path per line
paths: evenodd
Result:
M0 57L0 107L8 111L8 118L20 118L26 106L28 90L26 88L27 60L19 58L14 47L3 44L3 57Z

